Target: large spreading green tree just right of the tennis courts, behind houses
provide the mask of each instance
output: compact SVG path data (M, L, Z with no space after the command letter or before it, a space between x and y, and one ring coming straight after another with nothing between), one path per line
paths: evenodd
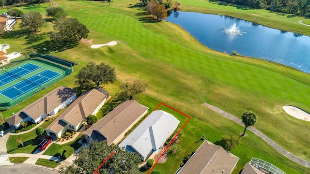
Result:
M104 62L98 65L94 62L89 62L75 77L77 78L75 83L79 86L95 83L99 87L99 85L112 84L116 80L114 68Z

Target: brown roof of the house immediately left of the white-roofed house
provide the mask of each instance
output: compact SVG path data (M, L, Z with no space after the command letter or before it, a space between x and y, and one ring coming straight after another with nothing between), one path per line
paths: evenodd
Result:
M125 101L85 131L84 135L91 137L93 131L98 131L110 145L148 109L135 100Z

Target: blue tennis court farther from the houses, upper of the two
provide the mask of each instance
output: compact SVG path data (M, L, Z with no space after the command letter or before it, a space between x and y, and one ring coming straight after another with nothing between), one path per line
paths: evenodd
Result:
M0 74L0 86L12 82L22 76L29 74L41 67L33 65L32 63L27 63L23 66L17 67L11 71Z

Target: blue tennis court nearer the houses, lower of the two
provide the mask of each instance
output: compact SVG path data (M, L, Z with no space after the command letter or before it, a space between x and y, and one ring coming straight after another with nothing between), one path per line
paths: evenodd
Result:
M15 84L14 86L1 90L0 93L12 100L15 100L19 96L22 96L27 92L42 86L43 84L60 75L60 73L56 73L50 70L44 70L41 73L37 73L27 79L23 79L21 82Z

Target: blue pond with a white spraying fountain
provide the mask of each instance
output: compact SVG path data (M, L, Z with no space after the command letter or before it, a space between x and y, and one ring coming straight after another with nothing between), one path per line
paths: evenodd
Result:
M308 36L214 14L178 11L172 12L166 21L181 26L213 50L229 54L236 51L243 56L275 61L310 73ZM234 24L239 27L240 33L225 32L225 29L232 29Z

